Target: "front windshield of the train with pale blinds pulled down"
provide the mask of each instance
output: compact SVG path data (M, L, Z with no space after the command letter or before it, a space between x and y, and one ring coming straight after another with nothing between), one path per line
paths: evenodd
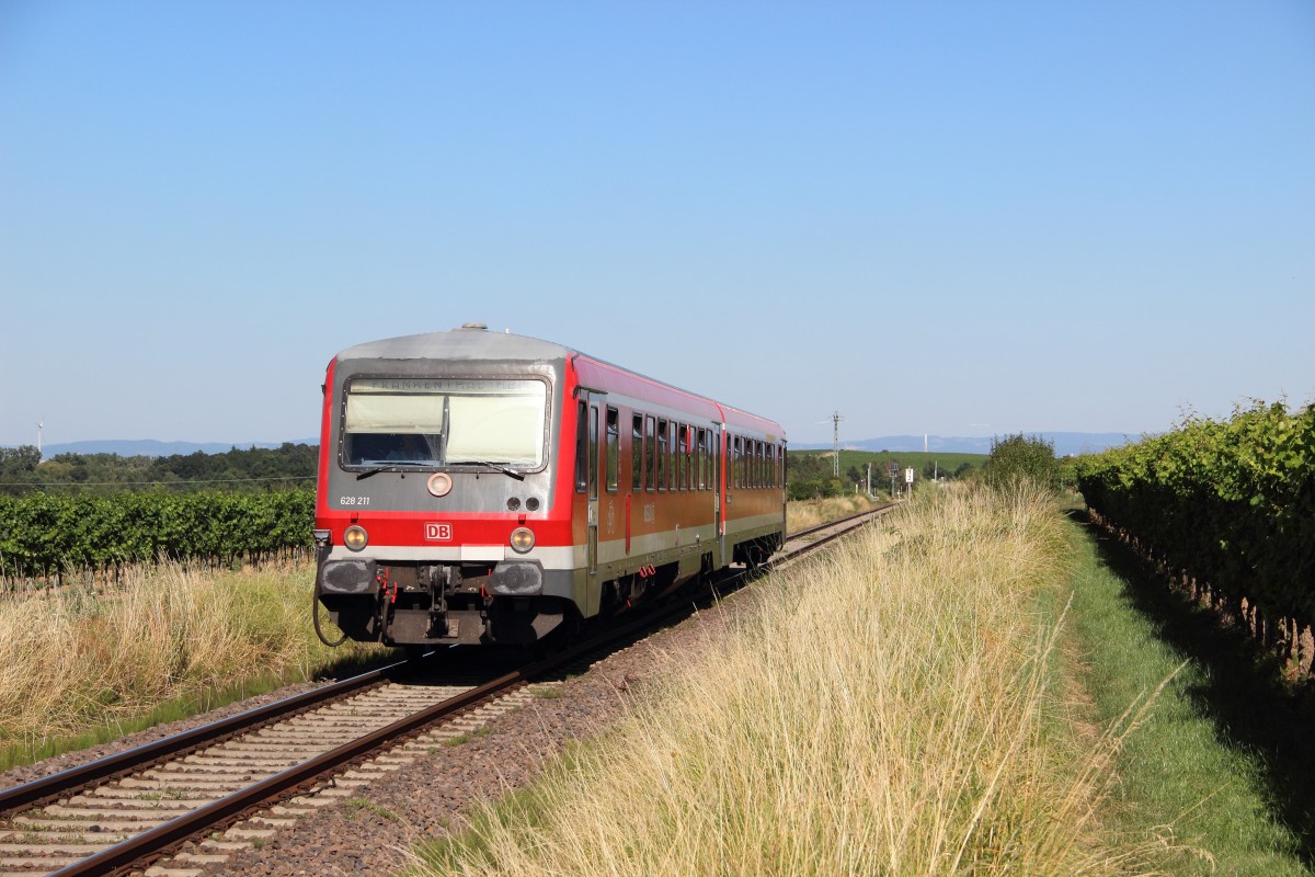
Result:
M345 465L543 465L548 387L540 380L354 377Z

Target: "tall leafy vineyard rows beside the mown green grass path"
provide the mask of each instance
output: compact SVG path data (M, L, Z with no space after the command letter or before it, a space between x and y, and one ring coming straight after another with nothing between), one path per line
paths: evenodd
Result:
M1315 405L1191 418L1081 458L1077 475L1099 521L1268 644L1299 651L1315 623Z

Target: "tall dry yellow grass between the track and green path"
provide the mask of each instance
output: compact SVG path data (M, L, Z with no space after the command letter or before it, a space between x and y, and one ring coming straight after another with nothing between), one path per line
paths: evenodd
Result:
M419 872L1134 870L1097 819L1120 738L1080 734L1057 680L1063 526L1041 494L928 492L769 580L761 611Z

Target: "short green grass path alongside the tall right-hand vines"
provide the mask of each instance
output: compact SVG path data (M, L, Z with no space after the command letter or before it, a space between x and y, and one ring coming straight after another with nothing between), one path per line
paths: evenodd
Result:
M1097 721L1172 676L1115 761L1111 824L1177 847L1153 859L1172 874L1312 873L1315 703L1115 543L1070 542L1074 671Z

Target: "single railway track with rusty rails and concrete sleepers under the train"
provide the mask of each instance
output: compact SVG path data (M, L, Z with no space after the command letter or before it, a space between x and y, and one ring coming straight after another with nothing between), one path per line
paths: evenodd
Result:
M890 506L786 538L772 569L852 533ZM719 592L740 571L718 582ZM359 795L417 749L473 734L534 697L534 680L688 614L682 601L559 655L489 665L402 663L0 793L0 877L146 873L185 877L279 827ZM523 653L522 653L523 655ZM454 660L455 659L455 660ZM483 665L481 669L477 669ZM153 864L154 863L154 864Z

